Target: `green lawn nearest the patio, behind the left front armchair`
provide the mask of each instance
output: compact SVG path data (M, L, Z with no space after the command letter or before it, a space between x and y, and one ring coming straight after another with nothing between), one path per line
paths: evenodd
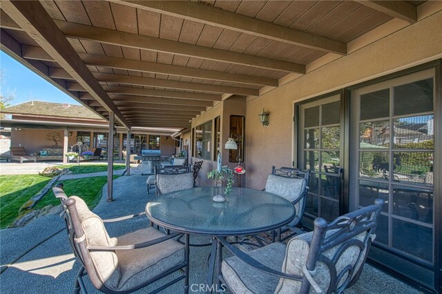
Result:
M92 172L93 173L93 172ZM116 179L117 176L114 176ZM50 181L50 177L40 175L8 175L0 176L0 228L6 228L19 216L19 208L32 196L37 194ZM106 184L107 177L85 177L62 181L66 195L77 195L84 199L89 208L95 207L101 195L100 190ZM52 204L60 204L50 190L35 209Z

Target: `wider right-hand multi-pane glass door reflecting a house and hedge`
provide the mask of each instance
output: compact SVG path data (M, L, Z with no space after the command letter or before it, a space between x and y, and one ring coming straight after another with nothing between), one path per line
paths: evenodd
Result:
M429 286L434 268L433 84L433 72L427 70L351 93L352 209L385 200L370 255Z

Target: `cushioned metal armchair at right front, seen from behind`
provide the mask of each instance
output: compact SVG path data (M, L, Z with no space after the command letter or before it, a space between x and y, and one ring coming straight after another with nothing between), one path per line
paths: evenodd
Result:
M220 260L218 286L231 293L343 293L356 283L370 248L383 200L327 224L316 218L314 231L287 246L276 242L244 253L218 238L234 256ZM218 249L219 250L219 249Z

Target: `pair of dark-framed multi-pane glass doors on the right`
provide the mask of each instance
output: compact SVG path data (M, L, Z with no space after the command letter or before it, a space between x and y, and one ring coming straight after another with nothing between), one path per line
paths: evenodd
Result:
M295 108L296 166L311 170L307 228L381 198L369 259L430 289L442 271L437 89L436 68L428 68Z

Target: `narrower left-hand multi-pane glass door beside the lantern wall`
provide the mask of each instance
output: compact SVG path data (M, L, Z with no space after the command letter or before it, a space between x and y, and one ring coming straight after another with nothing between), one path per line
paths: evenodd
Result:
M298 167L311 170L305 214L332 221L342 181L340 95L299 106Z

